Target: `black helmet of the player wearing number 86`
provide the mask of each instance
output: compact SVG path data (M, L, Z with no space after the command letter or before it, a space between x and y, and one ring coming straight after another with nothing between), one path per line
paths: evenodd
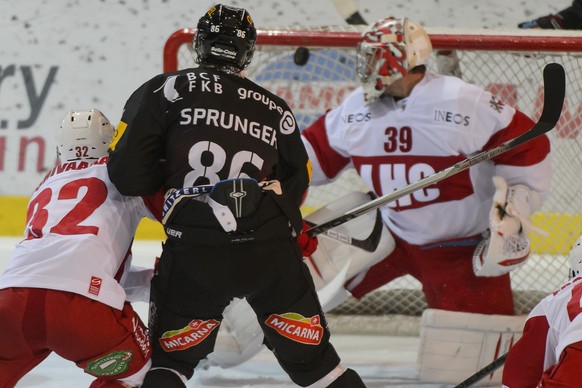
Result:
M247 10L217 4L198 21L196 62L243 70L251 62L256 40L257 30Z

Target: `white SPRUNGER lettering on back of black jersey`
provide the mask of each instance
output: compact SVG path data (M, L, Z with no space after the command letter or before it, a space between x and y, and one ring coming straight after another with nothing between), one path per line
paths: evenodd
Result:
M186 108L180 112L181 125L206 125L223 129L232 129L245 135L255 137L271 146L277 144L276 131L256 121L217 109Z

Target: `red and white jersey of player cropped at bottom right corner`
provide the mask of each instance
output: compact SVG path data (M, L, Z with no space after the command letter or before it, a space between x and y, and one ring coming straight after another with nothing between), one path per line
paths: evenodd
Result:
M535 386L562 351L582 341L582 277L566 282L530 312L522 337L510 349L503 371L505 387Z

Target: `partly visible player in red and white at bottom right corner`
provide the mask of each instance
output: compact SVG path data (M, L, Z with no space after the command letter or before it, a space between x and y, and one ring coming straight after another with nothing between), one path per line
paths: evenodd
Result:
M509 350L503 386L577 387L582 362L582 236L569 255L570 279L542 299Z

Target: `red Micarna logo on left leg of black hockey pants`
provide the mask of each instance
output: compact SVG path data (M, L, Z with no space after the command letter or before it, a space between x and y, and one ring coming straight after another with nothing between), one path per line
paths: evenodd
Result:
M204 341L218 326L220 322L215 319L194 319L183 329L162 334L160 345L166 352L188 349Z

